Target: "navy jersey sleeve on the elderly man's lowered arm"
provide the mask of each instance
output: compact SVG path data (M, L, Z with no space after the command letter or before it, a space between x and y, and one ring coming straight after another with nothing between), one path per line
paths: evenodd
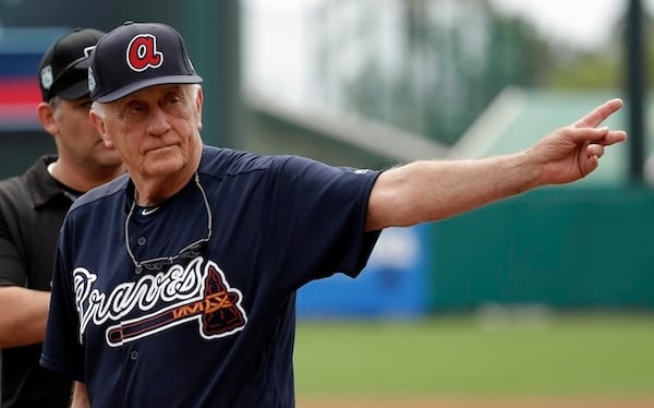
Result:
M55 255L50 312L40 364L73 380L85 382L83 375L84 355L75 299L73 299L72 271L68 266L65 233L64 225Z

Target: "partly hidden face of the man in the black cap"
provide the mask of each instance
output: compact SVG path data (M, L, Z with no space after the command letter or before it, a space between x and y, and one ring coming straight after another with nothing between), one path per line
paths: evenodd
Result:
M57 136L60 157L84 168L116 168L122 159L114 148L108 147L88 119L88 97L65 100L57 98L47 104L50 111L45 124Z

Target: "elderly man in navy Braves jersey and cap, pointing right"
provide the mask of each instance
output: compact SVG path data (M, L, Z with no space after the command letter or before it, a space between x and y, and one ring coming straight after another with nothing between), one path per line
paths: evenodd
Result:
M41 364L74 406L293 407L295 291L356 276L379 231L578 180L622 131L609 100L532 148L385 171L204 145L202 79L164 24L102 37L90 118L129 175L81 197Z

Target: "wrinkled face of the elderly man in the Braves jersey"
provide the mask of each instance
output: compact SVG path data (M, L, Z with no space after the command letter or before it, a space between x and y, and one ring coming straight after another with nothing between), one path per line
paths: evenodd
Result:
M196 85L148 87L94 108L90 118L133 177L187 173L199 163L202 89Z

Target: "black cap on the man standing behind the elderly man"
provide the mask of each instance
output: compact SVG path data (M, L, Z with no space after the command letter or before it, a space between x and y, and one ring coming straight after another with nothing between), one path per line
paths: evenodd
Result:
M75 28L50 45L38 65L45 101L55 96L72 100L88 95L88 56L102 35L94 28Z

